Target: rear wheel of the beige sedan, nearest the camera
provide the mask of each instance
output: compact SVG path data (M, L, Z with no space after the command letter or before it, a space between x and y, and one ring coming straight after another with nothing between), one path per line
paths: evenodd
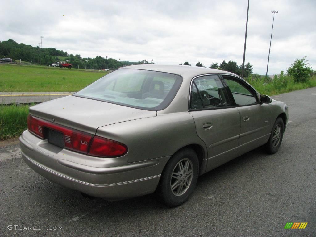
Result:
M162 201L170 207L183 204L195 188L198 172L194 150L185 148L176 152L161 174L158 192Z

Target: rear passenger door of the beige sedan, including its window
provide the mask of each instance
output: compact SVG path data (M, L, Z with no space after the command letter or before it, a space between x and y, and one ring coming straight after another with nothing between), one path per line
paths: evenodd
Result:
M199 76L192 81L189 112L197 135L208 148L207 171L237 156L240 114L236 107L229 106L218 75Z

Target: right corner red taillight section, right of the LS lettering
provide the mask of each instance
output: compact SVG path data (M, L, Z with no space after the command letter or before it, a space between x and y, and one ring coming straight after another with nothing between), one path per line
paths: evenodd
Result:
M119 142L94 136L88 155L117 157L127 153L127 147Z

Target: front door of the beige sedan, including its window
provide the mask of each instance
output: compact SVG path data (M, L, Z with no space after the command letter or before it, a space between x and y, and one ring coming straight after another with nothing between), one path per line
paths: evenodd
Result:
M222 75L228 97L240 112L238 155L266 143L270 135L271 111L268 104L258 100L255 90L235 76Z

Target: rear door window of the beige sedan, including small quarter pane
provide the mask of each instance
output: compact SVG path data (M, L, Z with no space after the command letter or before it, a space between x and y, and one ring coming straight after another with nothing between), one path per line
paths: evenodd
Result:
M191 86L190 110L227 107L228 96L217 75L201 76Z

